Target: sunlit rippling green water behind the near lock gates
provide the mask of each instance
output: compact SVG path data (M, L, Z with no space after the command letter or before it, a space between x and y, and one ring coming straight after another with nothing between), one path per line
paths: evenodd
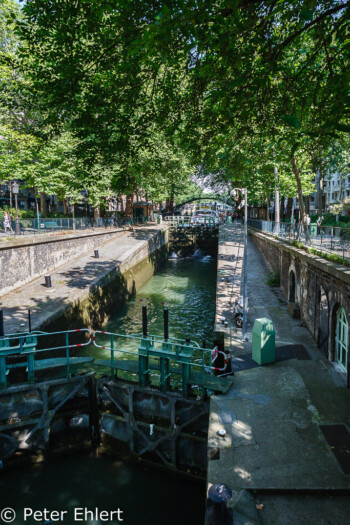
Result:
M142 303L146 300L148 333L163 335L163 302L169 310L169 336L190 338L202 346L206 340L210 347L215 317L216 260L210 256L196 259L169 260L104 327L117 334L142 333ZM99 345L110 347L110 336L98 335ZM140 340L115 339L114 348L137 353ZM84 349L84 355L96 359L110 358L110 351L94 346ZM116 353L115 357L132 359L129 354ZM136 359L135 355L135 359Z

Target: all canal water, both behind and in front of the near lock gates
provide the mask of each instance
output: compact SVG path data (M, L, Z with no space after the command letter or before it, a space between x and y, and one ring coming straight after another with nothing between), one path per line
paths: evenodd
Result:
M142 331L140 299L147 300L149 332L162 335L163 307L169 306L170 336L211 341L215 316L216 261L203 254L169 260L125 307L112 316L105 330L122 334ZM90 347L89 347L90 348ZM102 349L91 347L96 357ZM97 355L96 355L97 354ZM107 355L109 355L107 353ZM66 456L30 469L0 475L0 510L13 508L14 525L23 524L23 508L67 510L57 523L71 525L74 508L123 511L123 522L88 519L87 524L202 525L205 484L161 470L123 462L110 456ZM80 514L79 514L80 516ZM116 516L116 515L115 515ZM54 523L43 519L26 523Z

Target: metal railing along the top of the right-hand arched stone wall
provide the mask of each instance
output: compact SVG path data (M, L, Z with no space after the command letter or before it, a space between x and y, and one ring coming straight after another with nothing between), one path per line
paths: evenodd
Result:
M289 242L297 241L320 252L350 259L350 228L249 219L248 225Z

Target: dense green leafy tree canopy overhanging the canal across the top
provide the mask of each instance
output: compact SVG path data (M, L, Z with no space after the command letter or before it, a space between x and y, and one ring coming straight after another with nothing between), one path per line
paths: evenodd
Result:
M276 184L297 192L303 213L315 170L349 147L349 10L339 0L27 0L6 15L16 53L2 51L3 104L30 115L22 131L41 141L69 134L78 186L103 180L161 200L201 166L253 199Z

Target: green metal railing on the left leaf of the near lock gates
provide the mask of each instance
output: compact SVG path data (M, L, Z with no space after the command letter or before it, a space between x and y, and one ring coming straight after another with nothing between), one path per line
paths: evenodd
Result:
M72 342L72 334L82 333L83 338L88 334L88 341ZM44 338L54 336L55 340L62 339L62 344L38 348L45 345ZM0 389L7 388L7 377L14 369L26 368L29 383L35 383L35 372L54 368L65 369L67 378L71 375L71 366L93 361L93 358L72 357L72 349L88 346L91 341L91 332L88 328L65 330L62 332L23 332L0 338ZM64 350L65 357L52 357L49 359L36 359L42 357L43 352L57 352Z

